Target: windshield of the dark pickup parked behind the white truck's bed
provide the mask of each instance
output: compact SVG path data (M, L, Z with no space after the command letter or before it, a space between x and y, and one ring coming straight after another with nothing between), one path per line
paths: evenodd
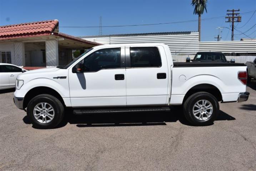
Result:
M212 53L212 54L196 54L194 61L224 61L226 62L226 57L224 54Z

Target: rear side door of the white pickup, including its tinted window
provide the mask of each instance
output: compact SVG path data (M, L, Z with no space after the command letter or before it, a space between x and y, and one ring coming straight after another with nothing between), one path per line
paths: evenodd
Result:
M166 105L168 67L163 46L126 46L126 103Z

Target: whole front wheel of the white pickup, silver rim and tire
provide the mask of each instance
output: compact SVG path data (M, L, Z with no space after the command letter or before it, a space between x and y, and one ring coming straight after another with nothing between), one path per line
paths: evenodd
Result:
M30 100L27 105L27 116L36 128L54 128L64 116L64 106L56 97L41 94Z

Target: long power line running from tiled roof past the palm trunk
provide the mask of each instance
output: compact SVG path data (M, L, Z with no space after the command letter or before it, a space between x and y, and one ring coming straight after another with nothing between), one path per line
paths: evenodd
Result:
M241 14L249 14L254 11L248 11L248 12L243 12ZM205 18L201 19L202 21L206 20L214 20L214 19L219 19L225 16L219 16L219 17L211 17L211 18ZM163 23L154 23L154 24L132 24L132 25L111 25L111 26L101 26L101 27L131 27L131 26L150 26L150 25L163 25L163 24L177 24L177 23L186 23L186 22L197 22L198 20L187 20L187 21L175 21L175 22L163 22ZM98 28L100 26L59 26L62 28Z

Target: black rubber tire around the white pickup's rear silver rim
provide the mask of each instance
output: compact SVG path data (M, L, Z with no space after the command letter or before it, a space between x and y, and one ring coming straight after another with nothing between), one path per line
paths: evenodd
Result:
M193 114L194 105L196 104L196 102L200 100L207 100L212 104L212 108L213 108L212 114L210 115L209 118L205 120L199 120ZM212 94L208 92L197 92L195 94L192 94L189 98L187 98L187 100L183 105L183 111L186 119L194 126L211 125L217 119L217 116L219 114L219 109L220 109L220 106L216 97L214 97ZM200 113L198 115L200 115ZM204 114L203 116L206 116L206 114Z

